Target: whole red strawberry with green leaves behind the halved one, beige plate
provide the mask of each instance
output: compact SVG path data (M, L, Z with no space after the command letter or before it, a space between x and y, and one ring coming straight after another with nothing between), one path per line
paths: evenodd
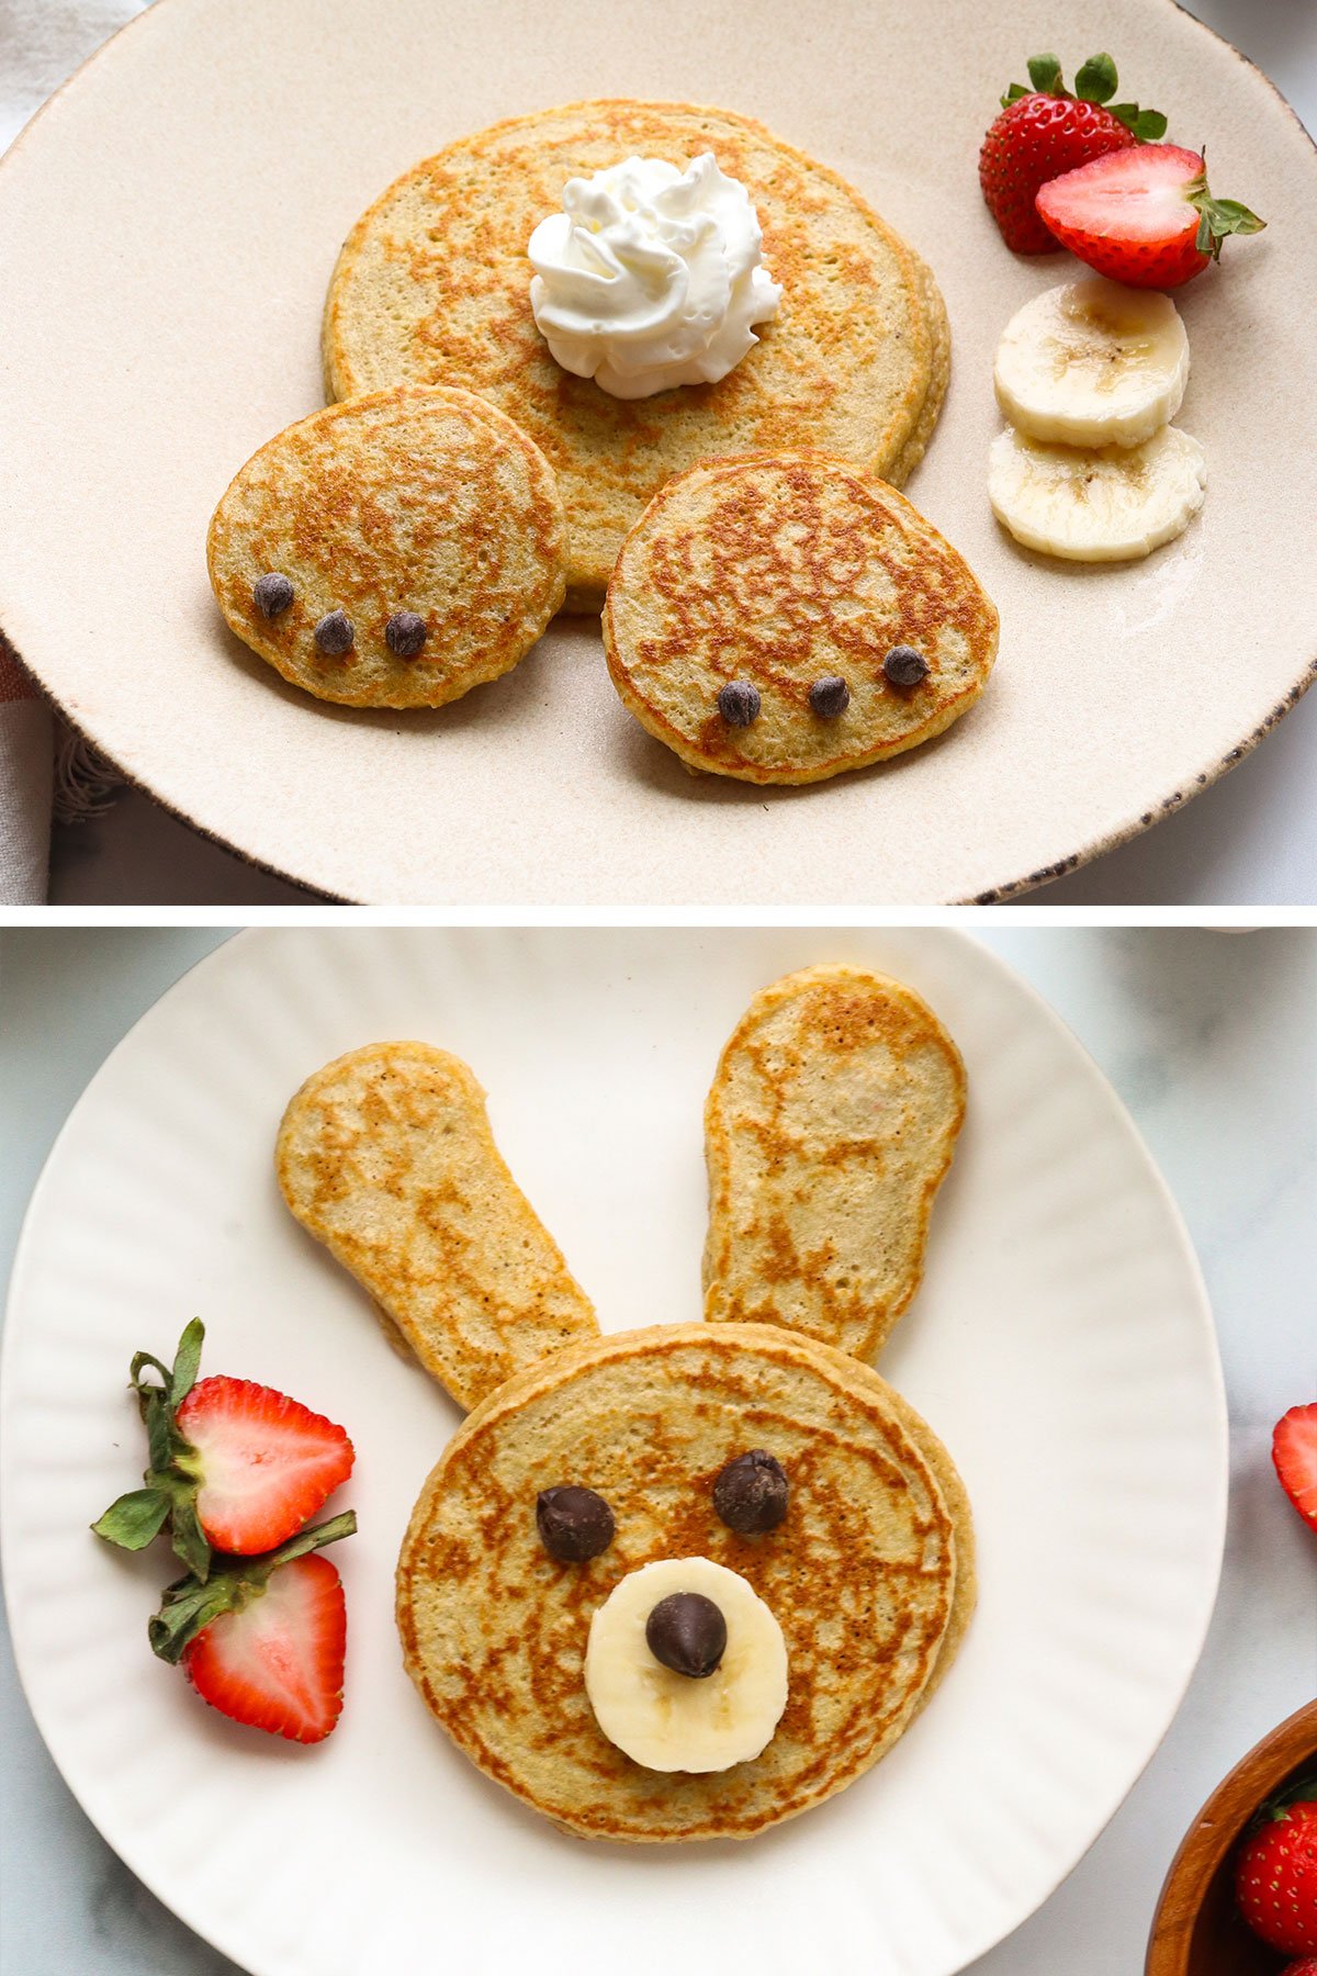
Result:
M1116 95L1116 63L1090 55L1066 89L1056 55L1031 55L1029 81L1011 83L1001 115L979 150L979 186L1001 237L1015 253L1052 253L1056 239L1039 217L1039 188L1110 150L1157 138L1167 121L1137 103L1104 105Z

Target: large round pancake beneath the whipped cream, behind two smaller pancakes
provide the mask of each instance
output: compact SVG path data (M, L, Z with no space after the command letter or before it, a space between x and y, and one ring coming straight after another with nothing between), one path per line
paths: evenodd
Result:
M549 356L527 241L569 178L703 150L748 188L780 314L719 383L610 397ZM924 263L827 166L731 111L598 101L494 124L395 180L340 255L324 366L332 397L456 383L517 419L563 486L569 609L598 609L628 528L695 460L817 445L904 478L942 403L950 340Z

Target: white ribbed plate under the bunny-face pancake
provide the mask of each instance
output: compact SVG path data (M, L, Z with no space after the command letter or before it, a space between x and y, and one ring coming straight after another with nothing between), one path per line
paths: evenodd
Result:
M930 998L969 1120L924 1288L881 1369L973 1498L981 1606L928 1713L851 1790L750 1846L563 1838L430 1725L391 1614L397 1543L456 1421L271 1170L298 1081L355 1043L466 1057L602 1324L695 1318L701 1103L748 996L819 958ZM205 1365L344 1421L361 1533L348 1705L302 1751L154 1662L164 1551L87 1523L142 1466L136 1348L205 1318ZM89 1085L18 1251L0 1391L18 1666L55 1763L128 1865L259 1976L950 1976L1043 1901L1129 1790L1199 1654L1226 1423L1210 1312L1127 1114L1054 1016L950 933L282 931L221 948ZM610 1950L610 1954L614 1952Z

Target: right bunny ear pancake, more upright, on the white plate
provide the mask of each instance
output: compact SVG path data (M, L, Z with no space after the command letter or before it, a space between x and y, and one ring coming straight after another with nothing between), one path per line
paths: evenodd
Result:
M900 982L821 966L764 988L705 1107L705 1318L873 1358L920 1284L964 1116L960 1051Z

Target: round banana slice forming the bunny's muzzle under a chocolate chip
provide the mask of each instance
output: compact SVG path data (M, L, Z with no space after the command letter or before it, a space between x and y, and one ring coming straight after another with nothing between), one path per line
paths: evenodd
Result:
M663 1668L646 1620L669 1593L703 1593L727 1620L713 1674ZM758 1757L786 1707L786 1642L736 1571L709 1557L661 1557L630 1571L590 1620L584 1691L610 1743L648 1770L731 1770Z

